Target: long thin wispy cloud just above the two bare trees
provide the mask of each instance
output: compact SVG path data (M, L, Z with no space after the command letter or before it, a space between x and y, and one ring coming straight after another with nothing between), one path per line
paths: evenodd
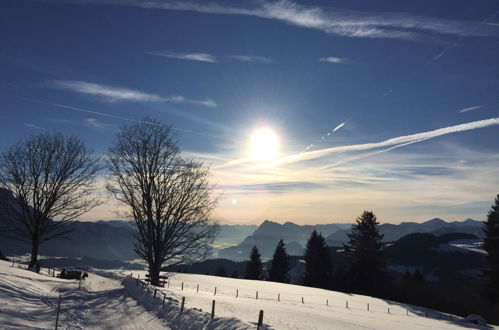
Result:
M80 94L99 97L108 102L135 101L135 102L168 102L168 103L190 103L214 108L217 104L211 100L191 100L181 95L168 97L141 92L134 89L113 87L85 81L51 80L43 84L47 88L68 90Z

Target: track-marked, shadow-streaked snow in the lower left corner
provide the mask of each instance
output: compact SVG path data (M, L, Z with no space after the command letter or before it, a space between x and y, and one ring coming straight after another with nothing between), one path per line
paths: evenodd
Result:
M60 329L168 329L137 305L122 284L95 274L77 281L12 268L0 261L0 329L54 329L59 294Z

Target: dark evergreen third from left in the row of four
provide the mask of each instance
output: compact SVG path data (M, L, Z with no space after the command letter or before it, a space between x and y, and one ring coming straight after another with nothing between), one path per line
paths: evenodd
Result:
M305 273L303 284L328 288L332 277L331 256L324 237L313 231L305 248Z

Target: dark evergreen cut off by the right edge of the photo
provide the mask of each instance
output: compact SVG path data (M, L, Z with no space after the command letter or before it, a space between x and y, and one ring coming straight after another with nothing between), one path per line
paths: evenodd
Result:
M499 303L499 195L487 215L483 248L487 251L488 269L484 272L486 295Z

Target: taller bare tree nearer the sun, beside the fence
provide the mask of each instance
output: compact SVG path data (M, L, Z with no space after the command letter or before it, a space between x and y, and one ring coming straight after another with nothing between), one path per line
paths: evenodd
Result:
M181 156L171 127L150 118L123 127L108 167L108 190L128 206L137 227L135 252L148 263L153 285L163 263L206 255L217 231L209 170Z

